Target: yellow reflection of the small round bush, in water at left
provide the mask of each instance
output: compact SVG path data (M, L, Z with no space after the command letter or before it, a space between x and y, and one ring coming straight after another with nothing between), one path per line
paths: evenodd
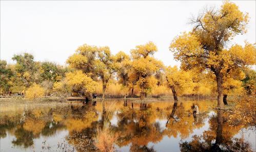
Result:
M31 120L28 119L23 124L23 128L27 131L33 132L34 135L39 134L45 127L45 123L42 120Z

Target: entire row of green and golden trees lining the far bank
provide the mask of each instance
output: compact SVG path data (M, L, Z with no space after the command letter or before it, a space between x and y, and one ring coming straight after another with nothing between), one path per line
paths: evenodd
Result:
M181 62L180 69L166 67L155 59L157 47L153 42L137 45L130 55L122 51L112 55L108 46L84 44L67 59L68 67L35 62L27 53L14 55L15 65L1 61L1 90L22 91L41 84L62 95L78 92L90 96L101 84L105 98L108 84L114 82L122 85L123 95L133 95L137 90L141 99L161 87L171 89L175 102L182 94L218 92L219 107L227 104L230 93L254 94L255 71L248 66L255 65L255 45L245 42L244 46L226 46L235 35L246 32L248 14L234 3L224 2L220 10L206 10L191 23L192 30L170 44L174 59Z

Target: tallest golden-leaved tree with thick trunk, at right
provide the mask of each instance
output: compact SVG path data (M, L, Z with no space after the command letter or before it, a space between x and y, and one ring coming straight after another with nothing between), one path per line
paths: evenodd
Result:
M246 32L248 14L239 10L232 2L225 1L219 10L206 10L191 20L192 31L173 39L170 50L174 58L181 61L183 69L211 70L216 79L218 107L223 107L223 82L225 75L242 71L255 64L255 45L225 44L238 34Z

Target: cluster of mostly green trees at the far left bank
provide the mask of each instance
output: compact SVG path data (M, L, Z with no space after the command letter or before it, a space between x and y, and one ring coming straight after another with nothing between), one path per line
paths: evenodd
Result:
M68 69L52 62L37 62L31 54L14 55L15 64L0 61L0 91L1 94L25 93L35 84L43 87L50 94L54 82L61 81Z

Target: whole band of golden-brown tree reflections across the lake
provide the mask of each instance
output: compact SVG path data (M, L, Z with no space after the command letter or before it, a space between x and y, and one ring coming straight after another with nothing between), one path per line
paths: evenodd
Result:
M214 107L212 102L197 103L200 114L194 118L190 109L192 103L155 102L140 110L136 103L132 109L129 102L124 107L123 102L113 105L106 101L107 114L102 114L101 103L95 107L83 104L37 107L26 110L23 121L24 111L1 113L0 137L6 139L8 132L15 137L10 141L14 146L27 148L41 136L56 138L58 131L65 130L68 131L66 141L76 151L95 151L97 130L107 122L119 135L115 143L117 149L129 146L130 151L158 151L156 145L168 137L181 140L180 149L174 149L178 151L249 151L249 143L233 138L243 128L242 125L229 126L227 115L220 110L216 115L208 115ZM115 123L111 119L116 119ZM203 129L203 126L208 126L206 123L209 123L209 128L189 140L188 137L196 133L195 129Z

